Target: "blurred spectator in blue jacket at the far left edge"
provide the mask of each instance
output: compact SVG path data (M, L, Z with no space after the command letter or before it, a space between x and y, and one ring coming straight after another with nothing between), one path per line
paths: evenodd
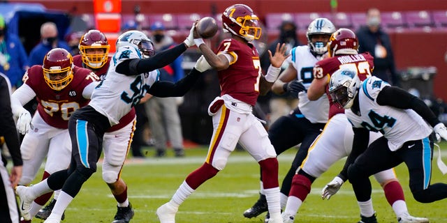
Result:
M28 55L20 39L8 33L6 22L0 15L0 72L10 79L13 88L22 85L22 77L27 71Z

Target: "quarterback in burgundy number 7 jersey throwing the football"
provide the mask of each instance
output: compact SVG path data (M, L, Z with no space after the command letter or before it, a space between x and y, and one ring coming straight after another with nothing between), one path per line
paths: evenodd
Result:
M277 45L270 54L272 66L263 76L256 47L252 43L261 37L259 18L249 6L235 4L222 14L223 29L231 38L222 40L217 54L200 40L196 40L203 56L198 63L217 70L221 95L208 107L212 116L213 135L205 163L191 172L179 186L168 203L156 210L161 223L175 222L179 206L206 180L216 176L240 145L261 166L263 187L270 211L270 223L282 222L279 204L278 161L268 134L260 121L252 114L258 95L267 93L286 59L286 47Z

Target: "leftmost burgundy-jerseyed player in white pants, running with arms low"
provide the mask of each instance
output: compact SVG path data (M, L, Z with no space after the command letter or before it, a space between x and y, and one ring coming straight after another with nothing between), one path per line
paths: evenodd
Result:
M25 134L20 146L23 174L20 185L28 185L36 177L45 157L43 179L56 171L66 169L71 160L68 118L76 109L89 102L98 77L88 69L73 66L73 58L66 49L50 50L42 66L32 66L23 76L24 84L11 95L17 130ZM24 105L34 97L37 112L31 114ZM54 194L57 199L59 192ZM38 197L31 206L30 215L50 199L52 193Z

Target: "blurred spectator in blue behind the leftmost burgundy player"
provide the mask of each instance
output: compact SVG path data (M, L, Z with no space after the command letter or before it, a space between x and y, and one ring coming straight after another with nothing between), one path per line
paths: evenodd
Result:
M28 66L42 65L43 58L51 49L64 48L71 53L71 47L64 40L59 40L59 32L54 22L45 22L41 26L41 43L29 53Z

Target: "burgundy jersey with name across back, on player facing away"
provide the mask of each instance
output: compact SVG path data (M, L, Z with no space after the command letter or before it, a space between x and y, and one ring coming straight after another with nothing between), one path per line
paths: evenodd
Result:
M314 78L323 78L325 75L332 75L333 72L340 68L357 69L360 81L371 76L374 69L374 58L368 52L357 55L335 56L328 59L318 61L314 67ZM339 109L337 105L332 102L329 94L329 84L326 84L326 94L328 95L330 108L329 118L335 114L344 113L344 109Z

